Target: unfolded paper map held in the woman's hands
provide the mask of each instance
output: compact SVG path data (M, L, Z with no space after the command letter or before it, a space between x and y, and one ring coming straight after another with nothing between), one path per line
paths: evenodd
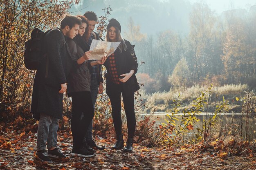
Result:
M101 60L104 56L108 57L116 51L119 44L120 42L107 42L93 39L90 47L92 56L89 60Z

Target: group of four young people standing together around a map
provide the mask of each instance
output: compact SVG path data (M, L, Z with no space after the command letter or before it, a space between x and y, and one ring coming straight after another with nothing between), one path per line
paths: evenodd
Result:
M117 50L101 60L90 60L93 39L99 34L93 30L97 15L64 15L60 28L47 31L44 39L47 56L40 63L34 78L31 113L39 121L36 156L44 162L51 158L65 158L57 145L58 121L63 118L63 93L72 97L71 155L92 157L94 149L105 147L92 137L94 106L98 93L103 93L101 66L106 66L106 93L110 98L112 118L117 141L112 149L132 151L136 127L134 93L139 89L137 57L129 41L121 37L121 25L111 19L107 25L106 41L121 42ZM121 94L127 117L128 139L124 148L121 120ZM46 150L47 146L47 150Z

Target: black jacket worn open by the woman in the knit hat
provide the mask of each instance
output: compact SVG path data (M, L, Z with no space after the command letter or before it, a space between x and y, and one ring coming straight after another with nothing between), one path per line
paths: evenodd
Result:
M115 54L115 63L117 67L117 74L120 76L125 73L129 73L131 70L134 70L134 74L130 77L130 79L127 80L125 83L121 83L123 93L134 93L135 91L139 90L139 84L137 82L137 78L135 74L138 70L138 62L137 57L135 55L135 52L133 50L132 45L129 41L125 40L127 50L122 51L120 53L119 49L117 49ZM107 58L106 62L104 63L104 66L106 66L107 71L109 68L109 58ZM115 84L112 82L111 78L108 77L108 73L105 74L106 77L106 93L108 95L111 95L111 93L116 91Z

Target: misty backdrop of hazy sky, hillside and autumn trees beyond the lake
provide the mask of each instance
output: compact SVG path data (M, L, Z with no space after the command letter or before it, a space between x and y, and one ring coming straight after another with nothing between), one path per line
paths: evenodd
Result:
M70 11L100 17L105 7L145 62L137 77L146 93L197 84L255 89L254 0L84 0Z

